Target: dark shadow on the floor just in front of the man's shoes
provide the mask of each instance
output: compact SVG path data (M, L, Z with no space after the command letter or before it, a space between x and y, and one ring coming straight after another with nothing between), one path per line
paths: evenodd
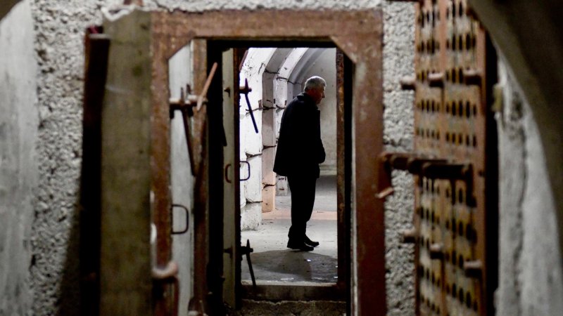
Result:
M256 280L282 282L319 282L337 281L337 260L331 256L315 254L314 251L272 250L251 254ZM250 280L248 264L242 263L244 280Z

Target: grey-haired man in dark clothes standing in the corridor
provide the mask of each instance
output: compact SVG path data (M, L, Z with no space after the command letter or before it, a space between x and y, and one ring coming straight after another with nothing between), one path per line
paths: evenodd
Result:
M307 222L315 204L315 185L319 178L319 164L324 162L321 140L320 110L317 105L324 98L327 82L310 77L305 88L289 105L281 117L274 172L287 176L291 191L291 228L287 247L311 251L318 246L307 235Z

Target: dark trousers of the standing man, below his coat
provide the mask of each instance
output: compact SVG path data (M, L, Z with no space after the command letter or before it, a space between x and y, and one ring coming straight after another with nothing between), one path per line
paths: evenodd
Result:
M291 191L291 228L289 241L301 243L305 239L307 222L311 219L312 206L315 204L316 177L288 176Z

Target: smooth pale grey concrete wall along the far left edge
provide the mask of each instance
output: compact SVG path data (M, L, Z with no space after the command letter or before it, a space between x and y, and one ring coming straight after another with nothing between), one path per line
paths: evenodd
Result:
M39 117L30 1L0 19L0 315L25 315L32 303L28 280Z

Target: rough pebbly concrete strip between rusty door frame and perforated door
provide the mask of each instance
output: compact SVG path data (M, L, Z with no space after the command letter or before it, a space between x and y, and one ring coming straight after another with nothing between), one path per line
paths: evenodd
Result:
M412 3L384 1L384 144L394 152L412 151L412 91L399 80L415 72L415 10ZM385 203L386 289L388 315L414 315L414 246L401 244L400 232L412 228L412 176L393 172L395 193Z

